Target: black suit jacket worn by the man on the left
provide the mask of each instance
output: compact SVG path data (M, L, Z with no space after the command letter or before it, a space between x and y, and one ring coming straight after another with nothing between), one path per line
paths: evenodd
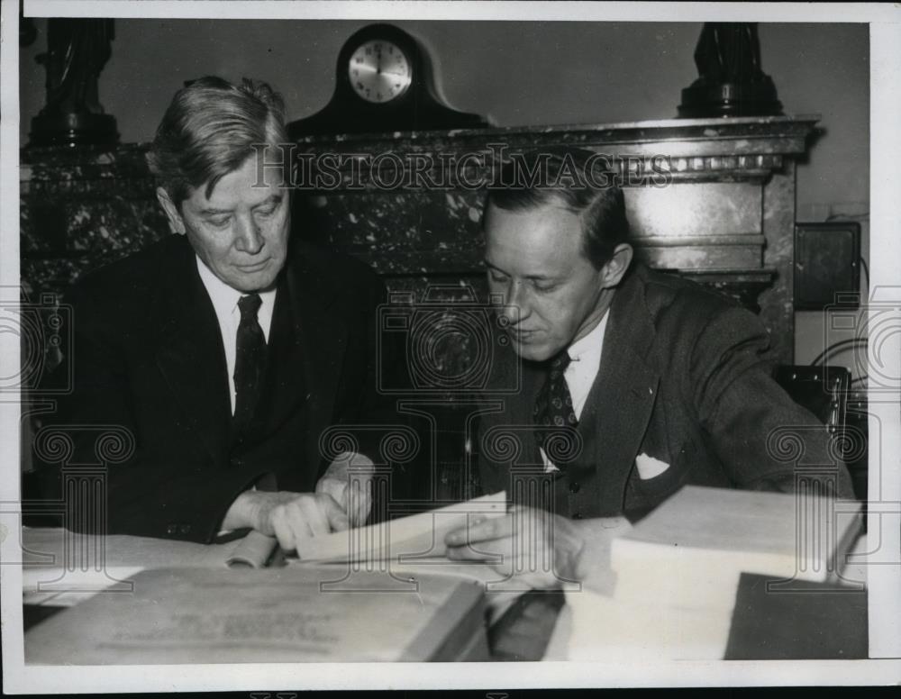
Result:
M86 428L124 428L135 445L108 467L107 531L210 541L235 497L267 474L270 487L275 477L278 489L312 491L327 466L323 430L378 413L384 294L365 265L293 246L244 439L232 434L221 332L185 237L80 281L69 298L74 392L58 418L76 441L70 460L96 463L97 432Z

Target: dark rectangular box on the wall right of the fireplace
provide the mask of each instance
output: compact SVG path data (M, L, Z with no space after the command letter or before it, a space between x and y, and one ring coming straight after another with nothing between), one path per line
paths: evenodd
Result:
M795 224L795 309L859 304L860 223Z

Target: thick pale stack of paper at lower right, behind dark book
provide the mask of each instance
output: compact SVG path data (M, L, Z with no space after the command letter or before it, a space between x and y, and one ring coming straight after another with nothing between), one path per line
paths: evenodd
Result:
M612 597L567 595L569 657L723 658L742 573L836 580L859 528L860 504L687 486L613 541Z

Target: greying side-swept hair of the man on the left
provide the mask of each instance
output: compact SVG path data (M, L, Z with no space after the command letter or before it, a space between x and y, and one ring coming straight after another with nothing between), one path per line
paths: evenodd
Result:
M207 76L172 98L147 162L172 201L180 205L199 186L206 186L209 197L222 177L241 168L255 152L254 146L279 148L287 142L285 103L267 83L244 78L241 85L232 85L221 77ZM287 152L267 155L272 162L285 155L287 180Z

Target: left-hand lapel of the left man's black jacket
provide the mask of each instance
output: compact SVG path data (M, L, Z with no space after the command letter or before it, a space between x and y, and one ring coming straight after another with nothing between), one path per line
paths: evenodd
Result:
M187 239L159 270L159 370L214 462L228 459L231 400L222 333Z

